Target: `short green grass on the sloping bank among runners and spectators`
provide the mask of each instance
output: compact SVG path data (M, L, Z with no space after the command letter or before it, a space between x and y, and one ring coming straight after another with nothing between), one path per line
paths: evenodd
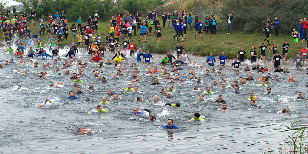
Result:
M71 22L68 23L69 26L71 26L71 24L72 24ZM30 23L28 25L30 25ZM101 33L102 38L105 38L109 33L109 28L110 28L109 25L110 22L99 23L98 32ZM36 22L34 26L30 26L30 30L32 31L32 33L35 32L38 34L39 22ZM163 33L162 44L160 44L160 39L156 40L156 44L153 43L156 38L156 36L153 34L151 34L151 36L148 36L147 40L148 43L144 44L143 38L140 40L140 43L138 43L139 32L140 31L136 32L137 36L132 36L132 40L134 41L134 43L138 48L142 48L143 50L149 50L152 53L155 52L163 54L167 53L169 50L173 52L174 48L179 42L173 39L172 36L175 35L175 30L172 29L171 27L162 29ZM181 42L181 45L184 47L185 51L188 52L188 54L208 56L209 53L212 52L214 56L218 56L221 54L222 51L224 51L225 55L229 59L232 59L233 57L236 57L236 53L237 51L240 50L240 47L244 47L244 50L247 52L251 50L252 46L260 47L263 43L263 40L265 39L264 33L246 34L245 32L235 32L235 31L233 31L231 34L226 34L226 33L227 32L217 32L216 35L210 35L210 34L205 34L204 32L201 33L203 37L203 39L201 40L200 36L197 36L197 38L194 37L196 31L192 29L192 31L187 31L186 34L187 39L185 39L184 42ZM46 43L48 40L46 30L45 30L45 35L42 35L41 37L42 37L42 42ZM60 43L59 46L67 47L72 43L71 38L72 38L71 35L69 35L67 42L64 41L63 44ZM0 41L2 40L3 38L1 37ZM181 41L181 39L179 40ZM293 50L289 51L288 57L294 57L300 49L297 49L296 44L294 43L294 39L291 36L291 32L290 34L279 34L279 37L277 38L275 38L274 35L270 36L270 45L267 45L267 47L271 48L274 42L276 42L279 47L279 51L282 51L280 46L284 43L285 40L288 40L288 43L291 45L291 47L293 47ZM25 43L25 39L23 39L22 41L23 43ZM104 40L102 39L102 42L103 41ZM120 40L120 42L122 42L122 40ZM306 41L301 42L301 40L299 40L299 45L300 47L302 45L306 45ZM261 52L260 49L258 49L257 50L258 58L260 58L260 52ZM272 55L272 51L266 50L266 53L268 56ZM246 58L250 58L249 54L246 56Z

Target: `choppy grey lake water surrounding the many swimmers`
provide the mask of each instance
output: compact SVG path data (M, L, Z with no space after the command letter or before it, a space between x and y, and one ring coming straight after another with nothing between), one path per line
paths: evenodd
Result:
M1 52L2 51L2 52ZM94 67L98 63L88 63L89 68L83 69L85 75L81 75L84 83L78 83L83 94L76 94L76 87L73 86L73 79L54 78L58 75L54 67L42 69L42 65L47 62L53 63L49 57L47 60L41 58L29 58L25 65L17 63L19 58L12 54L3 54L4 47L0 48L1 64L5 68L0 69L0 152L1 153L260 153L273 149L276 151L284 146L284 134L286 131L283 124L290 124L288 114L279 114L283 108L288 107L291 111L299 108L292 118L304 119L307 121L307 101L295 99L298 92L303 92L307 98L307 75L306 67L296 69L288 63L282 62L282 68L289 68L289 74L274 73L274 67L270 66L270 61L261 62L271 68L271 77L279 76L276 83L267 83L267 87L272 88L275 94L265 95L267 87L257 86L261 82L258 80L247 81L244 86L240 86L241 93L235 95L232 93L234 80L239 77L247 77L247 71L240 68L239 74L234 74L235 69L229 68L229 63L224 70L220 70L222 75L217 75L221 67L215 64L209 67L205 57L189 55L190 59L195 61L198 66L204 64L206 69L211 72L215 68L215 73L205 75L205 70L199 70L200 67L193 67L190 64L183 65L184 70L180 71L180 79L184 79L185 85L178 86L170 84L169 79L163 79L165 76L156 73L160 85L151 85L151 75L145 74L147 67L144 63L136 62L136 55L124 61L128 71L124 71L124 76L117 76L120 79L112 79L112 74L116 73L114 65L105 65L103 75L110 83L98 82L94 73ZM47 52L48 53L48 52ZM145 53L145 51L144 51ZM65 58L66 50L60 50L63 61L55 64L60 68L62 75L64 70L62 64ZM104 59L111 59L114 54L106 53ZM155 62L151 63L151 68L160 65L164 55L152 54ZM55 58L58 58L55 57ZM129 57L128 55L126 57ZM5 61L10 59L14 63L4 65ZM33 64L29 61L38 60L39 67L31 68ZM90 59L84 51L80 51L76 60L83 59L83 63ZM232 58L229 58L232 60ZM152 59L151 59L152 60ZM137 63L139 68L141 82L132 84L137 85L140 93L123 91L127 84L131 83L133 62ZM243 64L251 65L250 60ZM244 65L245 66L245 65ZM70 73L77 72L80 66L69 68ZM171 65L166 66L168 72L172 71ZM192 92L196 79L183 77L183 73L188 73L191 69L196 72L196 77L203 80L203 91ZM20 74L14 71L27 70L28 73ZM37 72L47 71L44 80L39 80ZM262 74L256 71L250 71L254 79L260 79ZM163 72L161 72L163 73ZM171 77L174 77L174 73ZM297 83L286 82L289 75L292 74ZM221 87L221 78L225 77L229 82L226 88ZM218 85L212 85L216 79ZM64 83L62 88L50 88L50 84L55 82ZM95 90L87 90L89 83L94 83ZM18 88L18 85L22 88ZM160 94L162 88L168 89L170 85L176 90L172 92L175 97L166 99ZM214 94L204 94L206 101L198 101L198 96L211 87ZM113 100L111 96L105 96L111 89L119 95L118 100ZM69 91L74 91L79 99L66 99ZM192 93L191 93L192 92ZM262 108L249 107L250 101L247 99L249 93L260 97L256 104L262 105ZM152 104L153 96L158 95L162 104ZM220 111L221 103L214 102L218 95L222 95L227 101L229 111ZM134 102L136 97L140 96L144 102ZM107 97L111 104L101 104L107 113L92 112L102 97ZM46 108L38 107L44 99L51 99L53 103L47 103ZM182 107L164 106L165 103L180 103ZM148 113L141 111L141 115L131 115L133 108L140 107L151 110L156 115L156 121L148 120ZM90 114L88 113L90 112ZM193 112L199 112L205 120L202 122L188 121L193 118ZM161 129L167 124L167 120L174 120L179 130ZM282 124L283 123L283 124ZM304 122L307 124L307 122ZM79 135L77 128L91 128L93 131L86 135Z

